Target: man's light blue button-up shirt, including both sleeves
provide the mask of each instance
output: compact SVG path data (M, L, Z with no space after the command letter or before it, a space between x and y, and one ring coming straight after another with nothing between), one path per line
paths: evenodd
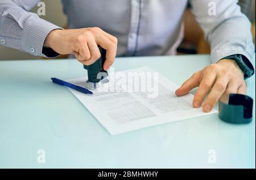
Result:
M0 44L31 53L42 52L52 23L27 12L39 0L1 0ZM187 0L63 0L69 28L100 27L118 38L118 56L174 55L183 39ZM236 0L191 0L192 13L211 47L212 62L254 53L250 22ZM211 8L216 7L216 14ZM0 55L1 56L1 55Z

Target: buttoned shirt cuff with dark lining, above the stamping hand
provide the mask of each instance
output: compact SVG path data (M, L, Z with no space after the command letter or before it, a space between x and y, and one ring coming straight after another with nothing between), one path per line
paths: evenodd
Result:
M44 48L44 40L52 30L63 29L40 18L30 18L26 21L22 33L23 50L34 56L56 57L59 54L51 48Z

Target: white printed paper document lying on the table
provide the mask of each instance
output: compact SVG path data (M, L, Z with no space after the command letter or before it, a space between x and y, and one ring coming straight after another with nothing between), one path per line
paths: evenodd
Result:
M84 87L86 79L67 81ZM92 95L69 90L111 135L217 112L193 108L193 95L177 97L177 88L170 79L143 66L123 72L110 69L109 83L92 90Z

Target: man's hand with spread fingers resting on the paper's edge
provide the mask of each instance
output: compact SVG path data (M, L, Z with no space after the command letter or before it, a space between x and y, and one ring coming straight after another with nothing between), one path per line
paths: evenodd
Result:
M217 64L209 65L196 72L175 93L178 96L185 95L197 86L199 86L199 89L193 99L193 107L199 108L210 91L203 103L204 112L211 111L219 99L227 103L231 93L246 93L243 72L236 61L229 59L218 61Z

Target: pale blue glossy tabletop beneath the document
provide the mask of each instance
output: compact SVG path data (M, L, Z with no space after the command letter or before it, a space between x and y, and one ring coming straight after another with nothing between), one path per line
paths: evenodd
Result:
M114 68L147 65L181 85L209 64L209 55L122 57ZM111 136L50 79L83 76L75 60L0 61L0 168L255 168L255 105L250 124L213 114ZM255 76L247 85L255 101Z

